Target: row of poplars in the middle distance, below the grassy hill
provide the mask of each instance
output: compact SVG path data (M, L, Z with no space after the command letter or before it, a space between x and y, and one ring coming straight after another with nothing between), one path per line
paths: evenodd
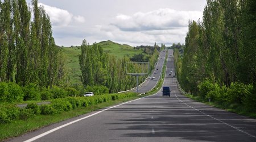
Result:
M149 62L153 68L159 52L155 49ZM79 64L82 72L81 80L84 86L106 86L110 93L129 90L136 85L136 77L126 73L149 72L147 64L129 63L129 58L117 59L113 55L103 52L96 43L89 45L86 40L81 44ZM142 82L145 77L139 77Z

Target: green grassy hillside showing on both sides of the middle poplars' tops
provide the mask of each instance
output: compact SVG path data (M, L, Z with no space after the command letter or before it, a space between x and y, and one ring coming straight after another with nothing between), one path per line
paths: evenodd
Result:
M132 57L136 54L143 53L142 50L134 49L130 45L118 44L113 41L101 41L97 43L103 48L103 51L114 55L117 58L122 58L123 56ZM67 56L68 68L70 68L71 83L81 83L80 81L80 66L79 66L79 55L81 52L80 47L63 47L63 53Z

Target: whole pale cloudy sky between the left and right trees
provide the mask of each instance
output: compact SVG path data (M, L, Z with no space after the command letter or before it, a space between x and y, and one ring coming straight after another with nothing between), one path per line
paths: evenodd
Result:
M30 0L27 0L31 3ZM203 17L206 0L38 0L57 45L112 40L121 44L184 43L188 20Z

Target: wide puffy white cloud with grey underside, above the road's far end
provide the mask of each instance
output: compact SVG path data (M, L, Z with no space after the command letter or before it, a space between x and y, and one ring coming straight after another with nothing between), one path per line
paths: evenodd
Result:
M197 20L202 15L200 11L158 9L150 12L137 12L132 16L118 14L112 24L122 31L168 30L187 27L189 19Z

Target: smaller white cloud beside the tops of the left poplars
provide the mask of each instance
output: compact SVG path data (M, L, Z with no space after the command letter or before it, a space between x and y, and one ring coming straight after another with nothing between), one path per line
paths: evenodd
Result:
M56 27L66 27L68 26L73 20L77 23L84 23L85 19L83 16L74 16L71 12L59 9L57 7L44 5L43 3L38 3L39 6L43 6L44 10L46 10L49 18L51 19L51 23L53 26Z

